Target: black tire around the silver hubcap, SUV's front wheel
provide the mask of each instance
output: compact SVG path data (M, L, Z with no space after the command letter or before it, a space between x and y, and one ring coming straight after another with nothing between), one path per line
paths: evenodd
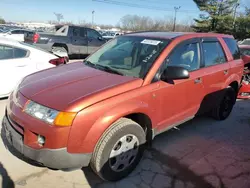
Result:
M124 136L126 137L127 135L133 135L137 137L139 141L139 147L136 147L138 152L133 160L131 160L131 163L129 162L130 164L127 166L127 168L124 168L121 171L115 171L111 167L113 158L110 158L110 154L113 147L117 145L120 139L122 139ZM138 165L145 150L145 143L146 134L142 127L130 119L121 118L105 131L97 143L90 161L90 166L93 171L103 180L118 181L129 175ZM128 153L129 152L124 152L119 156L125 156L125 158L127 158L128 156L126 155L128 155Z

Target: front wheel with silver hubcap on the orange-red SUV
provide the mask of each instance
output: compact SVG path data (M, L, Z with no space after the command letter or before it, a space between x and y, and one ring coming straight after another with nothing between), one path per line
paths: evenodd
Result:
M102 179L118 181L129 175L145 150L146 134L136 122L121 118L105 131L90 166Z

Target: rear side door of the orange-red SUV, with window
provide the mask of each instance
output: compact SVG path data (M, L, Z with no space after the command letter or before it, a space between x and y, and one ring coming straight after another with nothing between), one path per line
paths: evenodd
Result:
M217 104L221 97L226 80L230 76L230 65L220 41L217 38L202 39L202 82L205 86L206 98L203 110Z

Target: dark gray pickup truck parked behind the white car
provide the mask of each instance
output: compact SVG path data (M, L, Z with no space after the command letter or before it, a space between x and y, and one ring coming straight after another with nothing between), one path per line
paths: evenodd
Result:
M94 29L68 25L51 34L41 32L27 35L24 41L47 51L65 51L68 55L89 55L106 42Z

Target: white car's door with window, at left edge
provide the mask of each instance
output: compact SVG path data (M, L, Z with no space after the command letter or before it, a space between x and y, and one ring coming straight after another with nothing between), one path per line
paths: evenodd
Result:
M29 74L32 68L28 56L29 51L25 49L0 44L0 95L10 93Z

